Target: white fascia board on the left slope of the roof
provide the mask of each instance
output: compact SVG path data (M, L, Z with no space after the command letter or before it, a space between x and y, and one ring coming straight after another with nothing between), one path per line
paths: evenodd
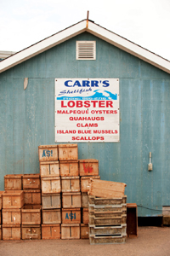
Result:
M33 56L42 53L47 49L54 47L57 44L61 44L84 31L86 31L86 20L82 20L80 23L77 23L74 26L70 26L63 31L58 32L57 34L54 34L53 36L40 41L37 44L33 44L29 48L21 50L20 52L10 56L4 61L0 61L0 73L8 70L10 67L14 67L17 64L30 59Z

